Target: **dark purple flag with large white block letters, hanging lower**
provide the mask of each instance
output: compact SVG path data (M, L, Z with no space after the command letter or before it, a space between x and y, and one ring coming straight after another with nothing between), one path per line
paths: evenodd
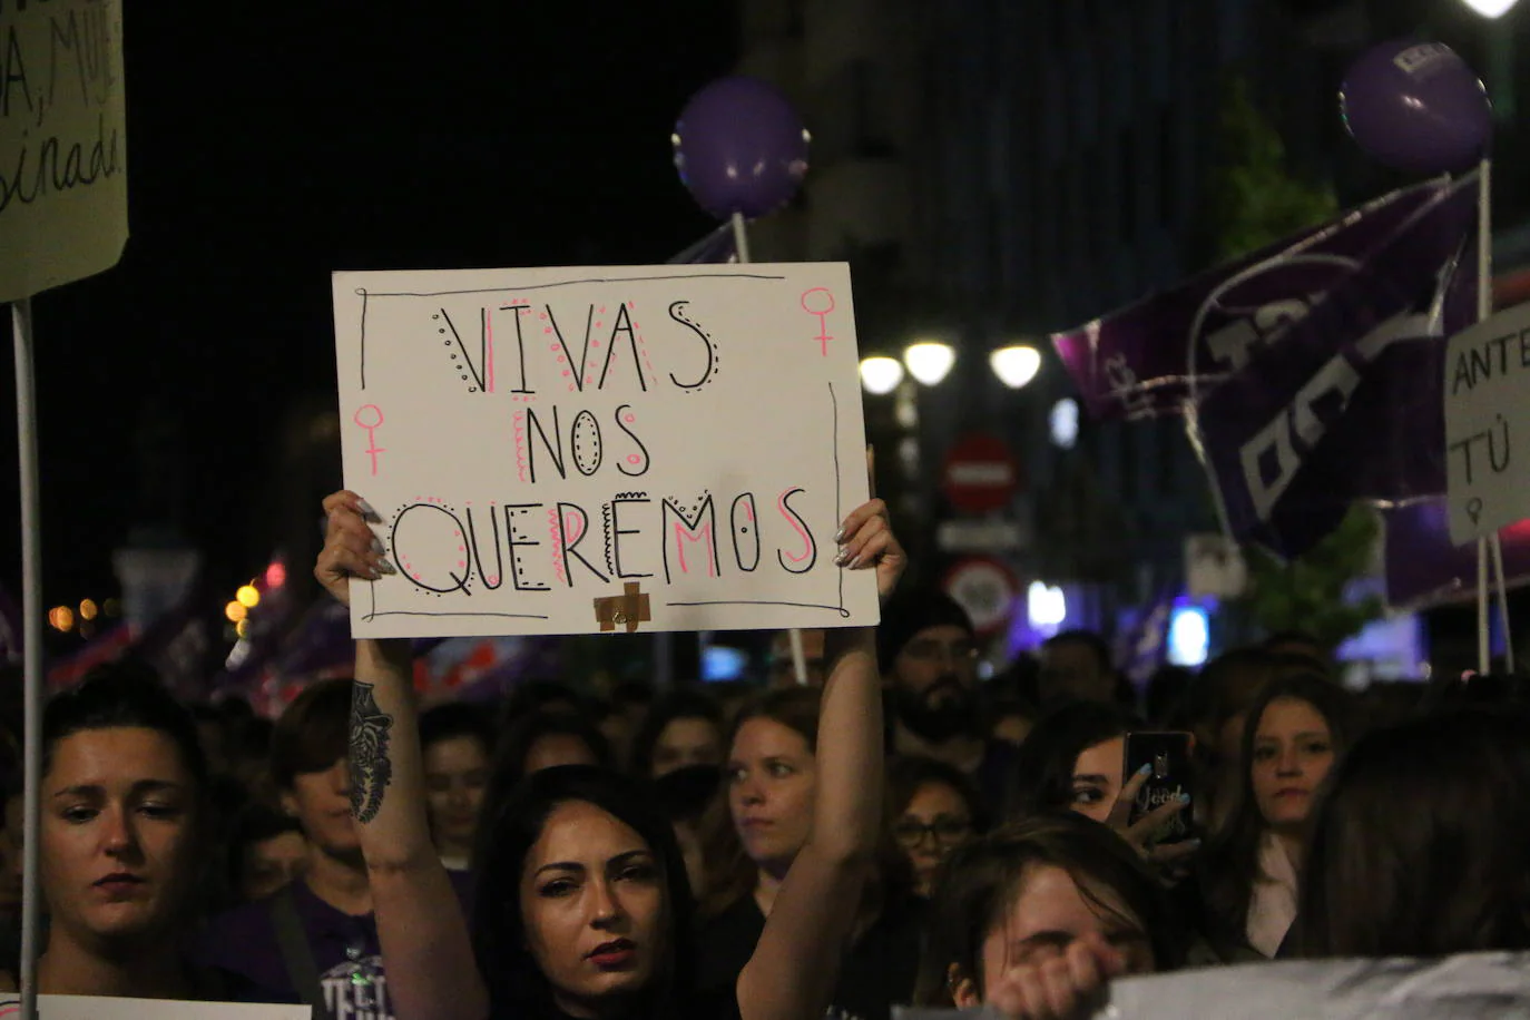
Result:
M1294 557L1353 500L1444 491L1444 338L1476 313L1476 197L1475 174L1435 191L1325 281L1273 266L1244 284L1267 306L1322 289L1190 414L1235 538Z

